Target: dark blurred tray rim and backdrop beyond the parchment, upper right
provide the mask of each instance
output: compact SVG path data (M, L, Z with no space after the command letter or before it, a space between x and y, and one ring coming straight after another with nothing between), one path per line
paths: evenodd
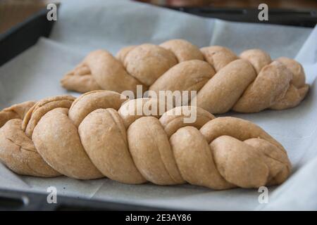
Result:
M174 10L237 22L314 27L316 0L137 0ZM268 5L268 21L259 21L259 4Z

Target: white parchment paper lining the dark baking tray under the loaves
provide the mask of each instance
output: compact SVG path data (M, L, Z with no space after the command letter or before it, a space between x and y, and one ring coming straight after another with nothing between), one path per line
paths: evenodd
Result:
M127 185L110 179L79 181L66 177L41 179L18 176L0 164L0 188L58 194L184 210L317 210L317 28L254 25L199 18L131 1L63 1L49 39L0 68L0 108L59 94L79 94L61 88L59 79L95 49L116 53L144 42L159 44L182 38L197 46L223 45L239 54L260 48L272 58L287 56L304 65L311 90L289 110L229 115L251 120L287 149L293 174L269 188L269 203L259 204L254 189L213 191L197 186Z

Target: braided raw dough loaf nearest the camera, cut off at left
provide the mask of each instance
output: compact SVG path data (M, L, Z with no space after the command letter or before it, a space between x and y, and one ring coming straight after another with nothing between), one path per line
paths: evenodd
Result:
M0 113L32 107L0 129L1 162L18 174L108 177L126 184L189 184L214 189L280 184L290 175L285 149L246 120L218 117L201 108L184 123L179 108L155 98L125 101L113 91L22 103ZM136 115L151 105L152 115ZM190 106L194 107L194 106ZM22 115L22 114L20 114Z

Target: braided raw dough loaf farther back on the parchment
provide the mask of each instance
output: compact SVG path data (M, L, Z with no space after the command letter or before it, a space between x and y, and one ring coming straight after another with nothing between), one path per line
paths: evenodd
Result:
M182 39L159 46L128 46L116 58L104 50L93 51L61 84L79 92L136 92L137 84L156 92L197 91L197 106L210 113L292 108L309 90L302 65L295 60L271 60L260 49L244 51L239 57L223 46L199 50Z

